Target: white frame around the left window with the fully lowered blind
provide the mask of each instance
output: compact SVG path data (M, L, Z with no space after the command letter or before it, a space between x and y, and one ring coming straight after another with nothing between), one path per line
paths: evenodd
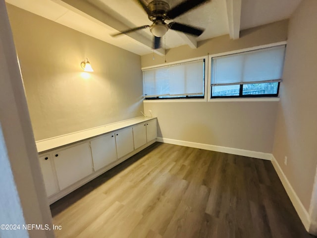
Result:
M204 85L204 98L186 98L186 99L154 99L154 100L146 100L143 99L144 103L170 103L170 102L207 102L207 97L209 95L208 93L208 85L210 84L210 79L209 79L209 73L208 73L208 67L209 67L209 60L208 56L203 56L203 57L197 57L197 58L191 58L191 59L186 59L186 60L179 60L179 61L173 61L173 62L168 62L168 63L162 63L158 64L155 66L148 66L148 67L142 67L141 70L146 70L146 69L153 69L157 67L162 67L162 66L168 66L176 63L185 63L189 61L194 61L194 60L205 60L205 85Z

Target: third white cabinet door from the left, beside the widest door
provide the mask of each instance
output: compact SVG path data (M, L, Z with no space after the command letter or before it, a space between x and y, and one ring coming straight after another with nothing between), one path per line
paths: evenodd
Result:
M117 159L114 133L98 137L90 142L94 170L97 171Z

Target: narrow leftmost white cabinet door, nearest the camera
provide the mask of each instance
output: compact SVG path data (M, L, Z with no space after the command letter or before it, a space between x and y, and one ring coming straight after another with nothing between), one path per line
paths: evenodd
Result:
M46 188L46 194L49 196L58 192L56 179L53 171L52 159L49 155L43 155L39 157L44 184Z

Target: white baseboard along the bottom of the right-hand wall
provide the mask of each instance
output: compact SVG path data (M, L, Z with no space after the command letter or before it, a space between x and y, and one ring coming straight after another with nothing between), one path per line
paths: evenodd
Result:
M295 210L296 210L299 218L301 219L306 231L309 231L310 226L311 226L311 217L310 217L308 211L306 210L303 203L301 202L301 200L297 196L292 185L290 184L290 182L286 178L284 172L282 171L281 167L277 163L275 157L273 155L271 155L271 156L272 156L271 161L272 161L273 167L274 167L279 179L281 180L281 182L282 182L282 184L287 192L287 195L289 196L291 202L293 203L293 206L295 207Z

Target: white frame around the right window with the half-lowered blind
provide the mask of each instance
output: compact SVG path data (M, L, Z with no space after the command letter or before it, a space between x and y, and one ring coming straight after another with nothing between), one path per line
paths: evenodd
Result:
M237 53L244 53L249 51L261 50L265 48L270 48L274 46L287 45L286 41L271 43L267 45L255 46L250 48L244 48L241 50L223 52L219 54L213 54L208 57L208 102L257 102L257 101L279 101L279 97L259 97L259 98L211 98L211 59L219 56L226 56Z

